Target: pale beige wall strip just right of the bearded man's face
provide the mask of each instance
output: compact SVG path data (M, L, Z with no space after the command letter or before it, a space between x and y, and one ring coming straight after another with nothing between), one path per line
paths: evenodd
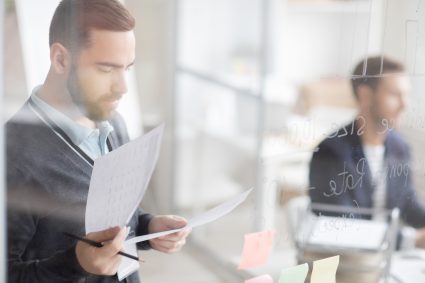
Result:
M136 17L137 86L146 129L165 122L161 154L142 207L171 213L173 207L175 5L169 0L127 0Z

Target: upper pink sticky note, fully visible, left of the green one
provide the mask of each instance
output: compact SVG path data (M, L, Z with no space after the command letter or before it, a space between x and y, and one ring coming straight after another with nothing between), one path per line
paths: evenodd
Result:
M274 231L246 234L238 269L248 269L264 265L269 259L272 250L273 236Z

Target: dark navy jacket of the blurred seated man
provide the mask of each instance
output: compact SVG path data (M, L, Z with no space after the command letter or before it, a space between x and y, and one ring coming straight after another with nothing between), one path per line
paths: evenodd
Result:
M309 191L313 203L373 207L374 188L358 132L353 124L347 125L322 141L313 154L310 186L314 189ZM424 227L425 206L413 188L409 146L396 131L388 133L384 145L386 208L398 207L406 223Z

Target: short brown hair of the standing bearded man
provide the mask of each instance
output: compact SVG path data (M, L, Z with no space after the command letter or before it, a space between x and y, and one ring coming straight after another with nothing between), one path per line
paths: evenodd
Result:
M58 42L78 51L90 45L93 29L131 31L135 19L118 0L62 0L49 30L49 46Z

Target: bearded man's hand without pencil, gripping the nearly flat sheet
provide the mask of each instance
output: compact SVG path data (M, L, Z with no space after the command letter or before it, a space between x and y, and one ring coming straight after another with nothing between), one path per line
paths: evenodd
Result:
M175 215L158 215L149 222L149 234L166 230L182 228L187 225L186 219ZM152 248L164 253L174 253L179 251L184 244L191 230L183 230L167 236L159 237L149 241Z

